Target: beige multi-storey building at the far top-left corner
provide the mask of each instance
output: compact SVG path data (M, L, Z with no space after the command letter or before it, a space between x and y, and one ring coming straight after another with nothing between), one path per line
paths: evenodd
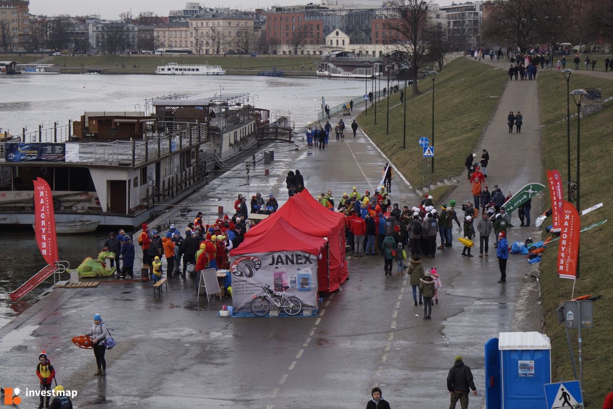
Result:
M24 51L29 41L29 1L0 0L0 51Z

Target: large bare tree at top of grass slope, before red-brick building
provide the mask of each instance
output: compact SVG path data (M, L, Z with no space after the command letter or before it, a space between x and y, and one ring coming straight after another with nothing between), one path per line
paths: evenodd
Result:
M394 35L388 41L398 52L400 63L413 78L413 95L420 93L417 76L421 67L428 62L430 42L440 33L428 18L430 4L432 0L405 0L394 6L397 17L390 20Z

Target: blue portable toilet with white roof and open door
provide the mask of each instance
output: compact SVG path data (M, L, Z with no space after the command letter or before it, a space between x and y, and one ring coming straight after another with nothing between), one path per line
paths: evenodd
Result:
M551 342L540 332L500 332L485 343L485 407L547 407L543 385L551 382Z

